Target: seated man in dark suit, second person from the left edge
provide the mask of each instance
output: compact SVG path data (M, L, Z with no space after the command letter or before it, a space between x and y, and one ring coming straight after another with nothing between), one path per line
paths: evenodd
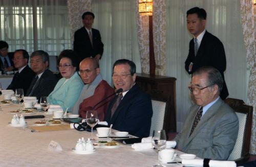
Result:
M15 89L22 88L24 94L27 93L29 85L35 76L35 73L28 66L28 62L29 54L27 51L16 50L14 52L13 63L14 67L18 69L18 72L14 75L12 82L7 89L15 91Z

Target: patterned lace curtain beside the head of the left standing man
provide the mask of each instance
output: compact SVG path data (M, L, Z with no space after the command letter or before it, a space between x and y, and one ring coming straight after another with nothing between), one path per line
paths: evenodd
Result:
M74 33L82 25L82 14L91 11L91 0L66 0L68 4L69 25L71 43L74 41ZM73 48L73 47L72 47Z

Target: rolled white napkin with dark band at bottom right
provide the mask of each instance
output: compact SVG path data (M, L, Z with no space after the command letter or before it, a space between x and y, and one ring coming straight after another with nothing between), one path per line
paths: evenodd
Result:
M203 166L204 160L203 159L182 159L181 162L185 166L190 165L198 165ZM237 164L234 161L217 161L217 160L210 160L209 161L210 167L236 167Z

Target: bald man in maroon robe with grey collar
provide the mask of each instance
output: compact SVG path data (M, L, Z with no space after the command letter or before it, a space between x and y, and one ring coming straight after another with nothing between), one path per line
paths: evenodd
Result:
M80 62L79 75L84 85L78 101L76 102L72 113L86 118L88 110L97 110L100 121L104 120L105 112L108 108L109 102L114 98L108 98L95 108L98 102L110 96L115 91L114 89L102 79L100 75L99 64L94 58L85 58Z

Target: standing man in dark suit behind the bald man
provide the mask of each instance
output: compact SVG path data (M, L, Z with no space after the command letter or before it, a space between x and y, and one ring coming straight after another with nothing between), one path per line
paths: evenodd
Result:
M93 29L94 14L85 12L82 14L84 27L75 32L74 51L79 56L80 61L87 57L94 57L97 61L103 54L103 43L98 30Z

